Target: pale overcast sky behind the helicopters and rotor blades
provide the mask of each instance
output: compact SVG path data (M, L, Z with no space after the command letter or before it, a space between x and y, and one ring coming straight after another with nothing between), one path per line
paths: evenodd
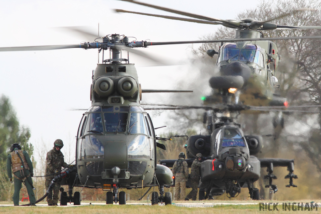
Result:
M258 0L143 2L220 19L234 19L237 13L259 4ZM3 1L0 46L79 44L88 40L55 27L88 26L98 34L98 23L100 36L118 33L152 42L197 40L217 29L214 25L114 13L114 8L175 16L117 0ZM163 59L184 62L191 54L188 46L155 46L140 50ZM74 136L84 111L70 109L91 106L91 75L97 55L94 49L0 52L0 94L10 98L20 124L30 128L31 143L43 142L51 148L52 143L60 138L65 143L75 144ZM131 56L130 62L136 65L143 89L159 89L163 85L167 89L177 88L175 75L186 70L184 65L145 67L150 63L135 56ZM186 89L184 86L179 88ZM147 100L150 101L154 100ZM166 125L166 121L158 120L156 116L153 118L155 127Z

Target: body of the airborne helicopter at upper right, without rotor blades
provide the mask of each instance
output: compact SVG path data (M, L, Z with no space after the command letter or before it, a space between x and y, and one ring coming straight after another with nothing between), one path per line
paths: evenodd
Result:
M251 39L260 36L261 33L256 30L237 30L235 38ZM219 90L220 94L237 97L236 102L240 100L251 106L270 105L277 84L274 71L278 62L278 50L271 41L222 43L216 62L220 76L212 77L210 85L214 90ZM238 90L241 93L235 95Z

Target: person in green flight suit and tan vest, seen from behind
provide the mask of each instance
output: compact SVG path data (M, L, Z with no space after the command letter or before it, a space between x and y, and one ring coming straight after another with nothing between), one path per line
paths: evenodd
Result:
M12 183L12 168L14 177L13 204L14 206L19 206L19 195L23 182L28 191L30 205L36 206L36 198L32 189L33 184L31 177L33 177L33 166L30 157L26 151L21 150L21 146L18 143L13 143L10 151L11 153L7 159L7 174L9 181Z

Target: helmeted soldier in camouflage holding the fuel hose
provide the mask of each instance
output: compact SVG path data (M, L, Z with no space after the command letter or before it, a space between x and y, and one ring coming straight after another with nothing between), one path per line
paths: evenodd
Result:
M52 181L52 179L56 176L55 173L60 172L61 167L69 167L67 163L65 163L64 155L60 151L61 148L64 146L62 140L57 139L54 142L54 148L47 153L47 164L46 164L46 175L50 175L46 177L46 190ZM52 191L47 196L48 206L58 206L58 199L59 199L59 188L60 188L61 180L57 180L54 187L53 187L53 194Z

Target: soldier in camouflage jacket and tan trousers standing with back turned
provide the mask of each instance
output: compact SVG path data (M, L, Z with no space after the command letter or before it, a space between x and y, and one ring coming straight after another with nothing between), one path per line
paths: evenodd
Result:
M186 196L186 182L188 179L188 164L185 161L185 153L181 152L178 155L178 160L175 161L172 173L175 177L175 196L174 200L184 200Z

